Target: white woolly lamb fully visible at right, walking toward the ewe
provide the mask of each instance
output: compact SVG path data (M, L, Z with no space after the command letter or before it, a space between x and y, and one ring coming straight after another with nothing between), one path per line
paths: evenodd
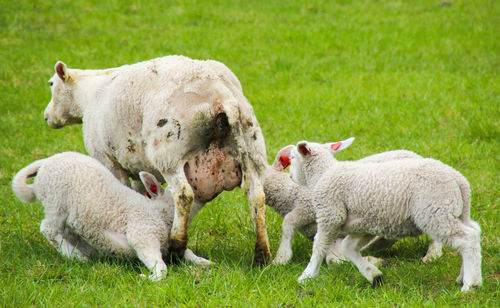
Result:
M337 162L331 144L301 141L290 155L291 177L312 190L318 231L299 281L318 275L326 249L339 234L342 253L373 285L382 272L360 254L374 235L422 233L462 256L462 292L482 284L479 225L470 219L470 186L458 171L430 158L382 163ZM325 166L330 166L325 169Z

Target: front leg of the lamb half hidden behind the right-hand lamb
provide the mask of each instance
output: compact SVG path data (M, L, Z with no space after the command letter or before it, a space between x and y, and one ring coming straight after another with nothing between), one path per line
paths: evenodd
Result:
M295 231L312 222L314 222L314 218L311 220L304 209L300 207L294 208L285 215L283 224L281 225L281 243L276 252L273 264L286 264L290 261L293 254L292 239Z

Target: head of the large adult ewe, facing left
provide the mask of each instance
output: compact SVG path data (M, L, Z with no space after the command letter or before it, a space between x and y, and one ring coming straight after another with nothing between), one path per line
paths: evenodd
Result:
M56 63L55 71L54 76L49 79L52 99L45 108L45 121L52 128L82 123L82 111L74 100L74 77L61 61Z

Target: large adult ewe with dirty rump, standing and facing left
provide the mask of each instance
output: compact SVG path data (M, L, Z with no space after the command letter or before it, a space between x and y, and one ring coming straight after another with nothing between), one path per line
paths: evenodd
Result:
M186 247L196 212L240 185L248 197L254 263L270 259L262 187L264 138L236 76L217 61L167 56L103 70L57 62L49 80L52 128L83 122L88 153L123 184L143 190L139 171L166 181L175 215L172 253ZM194 202L193 202L194 201Z

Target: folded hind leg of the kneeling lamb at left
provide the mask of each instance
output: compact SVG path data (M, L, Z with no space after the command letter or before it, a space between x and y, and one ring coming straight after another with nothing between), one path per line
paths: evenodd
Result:
M40 224L40 231L45 238L47 238L50 244L65 257L87 260L87 256L85 254L78 250L70 241L64 238L65 221L65 215L47 215Z

